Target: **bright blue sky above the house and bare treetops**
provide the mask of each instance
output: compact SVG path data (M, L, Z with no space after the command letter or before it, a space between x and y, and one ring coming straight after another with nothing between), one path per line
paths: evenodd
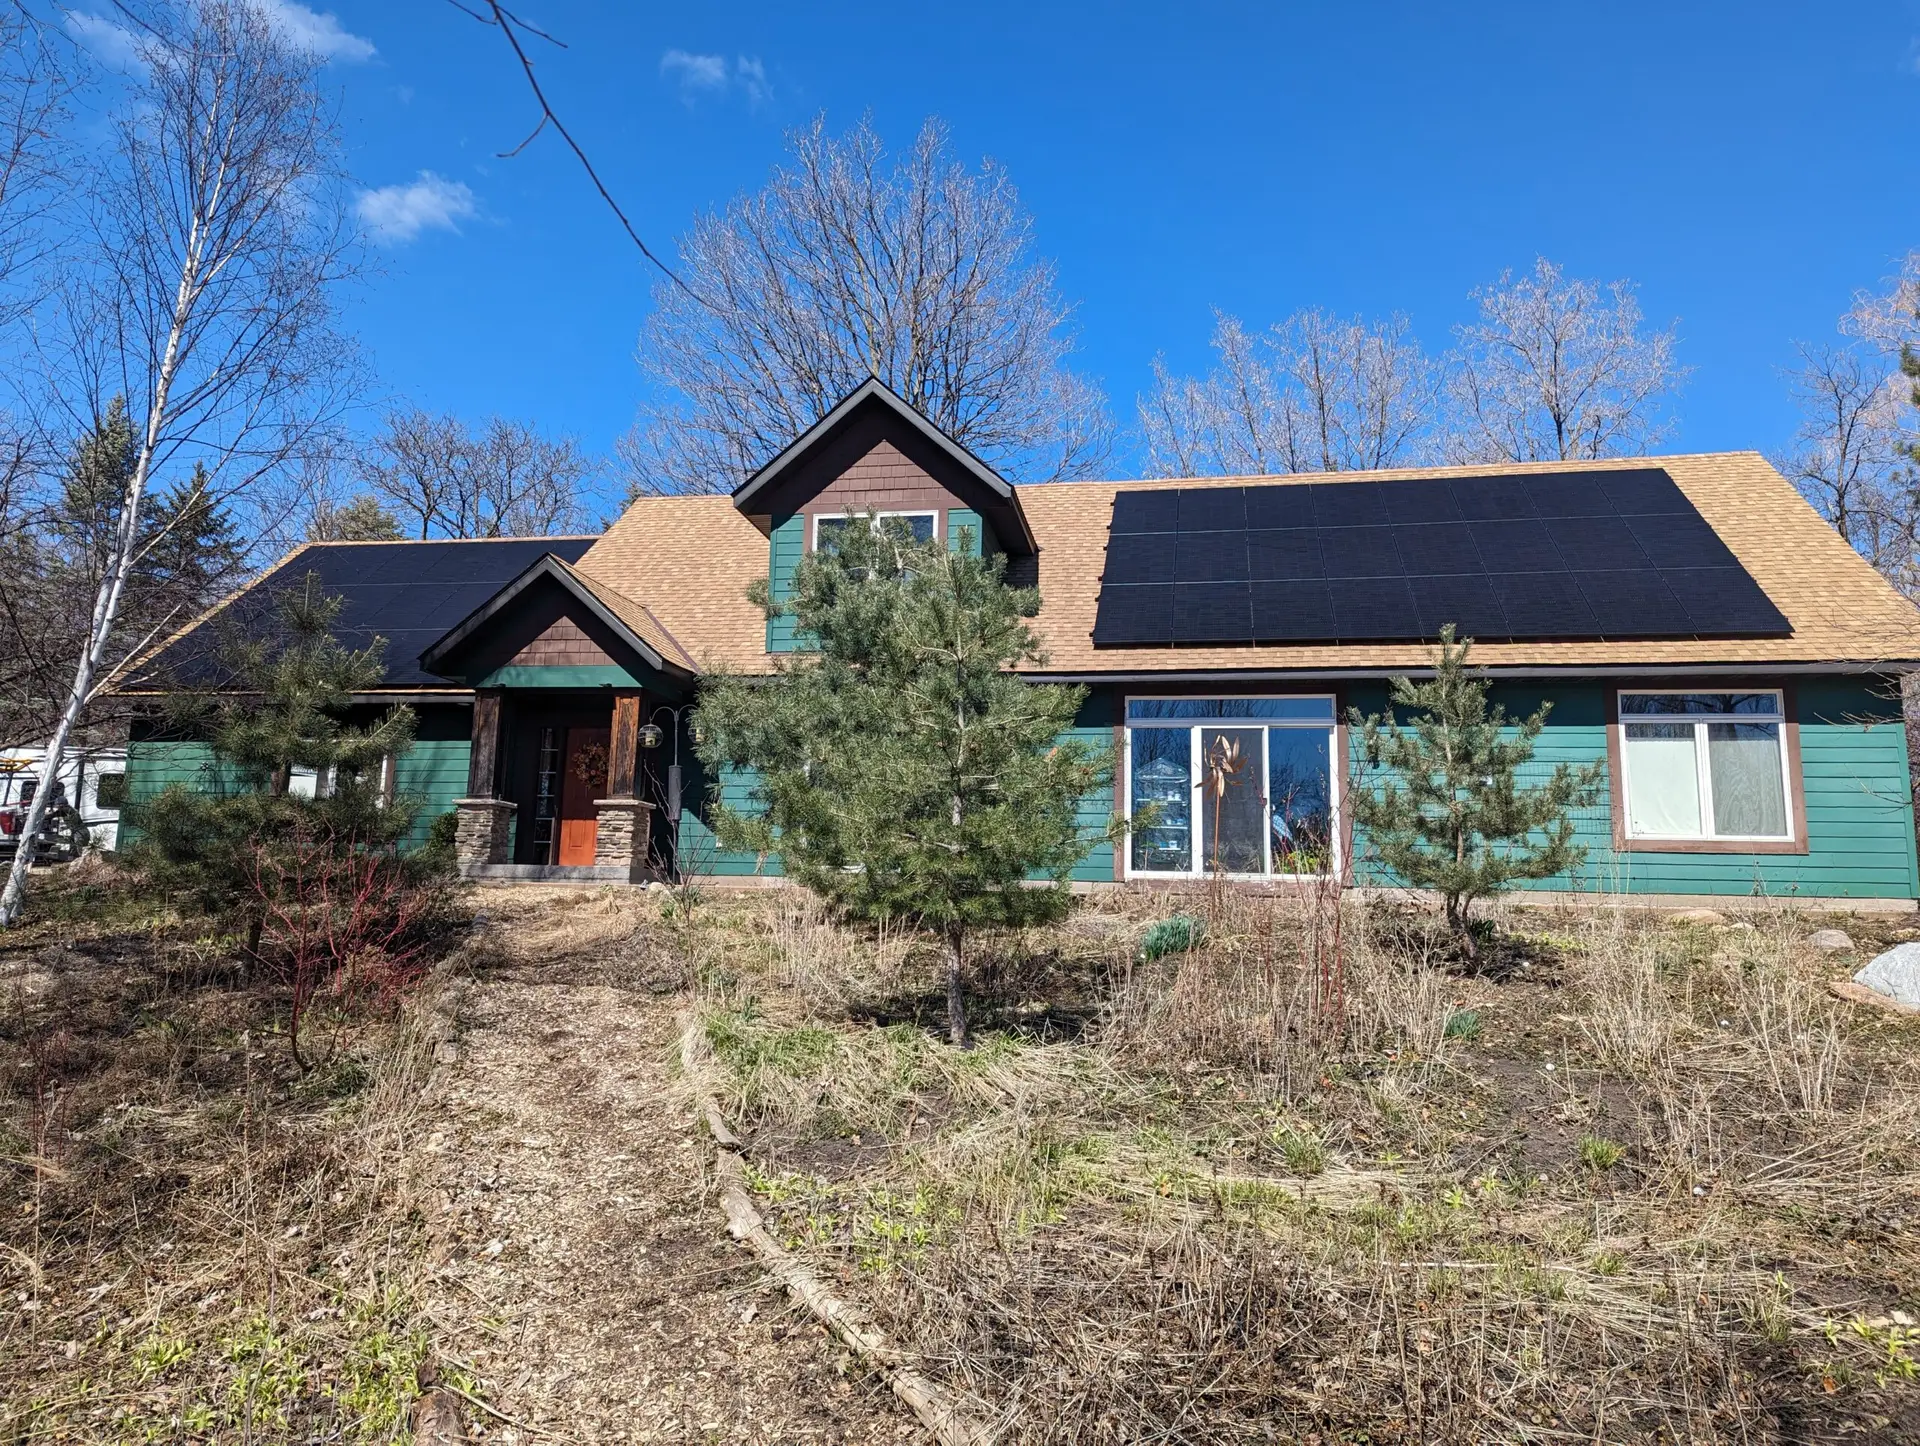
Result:
M945 117L1020 186L1123 422L1156 351L1206 365L1212 307L1400 309L1438 351L1473 286L1544 253L1678 321L1670 449L1774 449L1791 342L1920 246L1910 2L526 4L657 248L816 111L893 144ZM315 10L363 42L330 69L361 184L438 179L390 194L422 225L351 301L382 384L609 449L653 277L557 138L497 157L534 119L499 35L444 0Z

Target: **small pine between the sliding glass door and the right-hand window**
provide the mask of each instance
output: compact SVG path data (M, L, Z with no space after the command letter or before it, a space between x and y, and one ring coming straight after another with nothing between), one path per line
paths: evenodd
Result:
M1384 714L1348 716L1365 766L1384 770L1352 789L1354 824L1405 885L1442 897L1448 928L1478 958L1476 901L1586 858L1571 810L1594 803L1603 766L1555 764L1544 783L1521 787L1553 705L1517 722L1490 709L1484 674L1467 666L1471 649L1473 639L1455 643L1453 628L1442 628L1432 682L1394 678ZM1405 726L1396 711L1411 714Z

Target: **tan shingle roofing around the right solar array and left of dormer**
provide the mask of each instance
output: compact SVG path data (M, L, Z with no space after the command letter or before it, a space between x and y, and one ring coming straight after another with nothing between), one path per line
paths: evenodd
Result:
M1920 659L1920 611L1870 568L1755 451L1599 463L1404 469L1365 480L1528 474L1665 467L1741 566L1793 624L1791 638L1726 641L1482 643L1490 666L1620 666L1688 663L1884 663ZM1332 478L1196 478L1160 482L1052 482L1020 488L1041 543L1041 615L1035 632L1060 672L1194 672L1236 668L1407 668L1427 647L1102 647L1091 641L1114 494L1127 488L1298 486ZM703 670L766 672L766 630L747 584L766 574L766 538L724 495L643 497L580 559L578 568L659 622Z

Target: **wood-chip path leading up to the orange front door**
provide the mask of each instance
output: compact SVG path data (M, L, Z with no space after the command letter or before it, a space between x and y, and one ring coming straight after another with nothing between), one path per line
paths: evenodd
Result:
M495 903L499 956L461 999L459 1058L436 1085L426 1300L444 1350L522 1423L488 1438L912 1438L728 1241L672 1089L670 968L622 908Z

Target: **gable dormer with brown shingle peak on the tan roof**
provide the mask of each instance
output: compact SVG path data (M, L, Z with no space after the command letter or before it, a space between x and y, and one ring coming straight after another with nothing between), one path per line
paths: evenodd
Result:
M998 472L870 376L733 492L768 540L768 588L791 595L822 518L908 517L948 547L1033 557L1020 497ZM766 628L766 651L793 651L793 620Z

